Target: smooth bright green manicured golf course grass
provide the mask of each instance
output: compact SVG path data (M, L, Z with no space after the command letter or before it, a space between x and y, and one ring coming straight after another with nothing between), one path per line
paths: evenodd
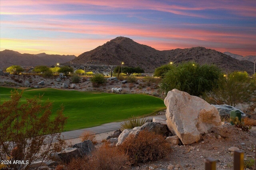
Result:
M11 88L0 87L0 103L10 99ZM58 90L52 88L24 89L22 102L44 94L42 101L53 102L53 116L63 104L68 122L64 131L98 126L104 123L122 121L132 115L146 116L165 109L162 99L142 94L110 94Z

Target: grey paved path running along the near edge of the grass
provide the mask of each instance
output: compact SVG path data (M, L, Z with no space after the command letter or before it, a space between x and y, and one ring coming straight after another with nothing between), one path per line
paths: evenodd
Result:
M149 117L145 117L145 118L147 120L147 119L153 119L153 117L161 117L166 120L165 111L160 111L159 113L161 113L161 115L149 116ZM74 138L80 137L82 135L82 133L84 133L84 131L91 131L94 134L105 133L105 132L120 129L120 123L121 122L106 123L106 124L96 126L96 127L62 132L61 135L63 136L62 139L68 140L68 139L74 139Z

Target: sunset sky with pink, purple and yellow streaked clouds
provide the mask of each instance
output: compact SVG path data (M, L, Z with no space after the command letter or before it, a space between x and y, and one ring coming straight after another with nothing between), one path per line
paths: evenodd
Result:
M78 56L119 36L256 55L256 1L0 0L0 51Z

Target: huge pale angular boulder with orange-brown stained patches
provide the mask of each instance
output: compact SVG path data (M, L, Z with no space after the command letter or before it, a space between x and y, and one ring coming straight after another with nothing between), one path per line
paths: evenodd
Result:
M216 107L197 96L173 89L164 104L168 128L184 145L199 141L201 134L208 133L211 127L222 128Z

